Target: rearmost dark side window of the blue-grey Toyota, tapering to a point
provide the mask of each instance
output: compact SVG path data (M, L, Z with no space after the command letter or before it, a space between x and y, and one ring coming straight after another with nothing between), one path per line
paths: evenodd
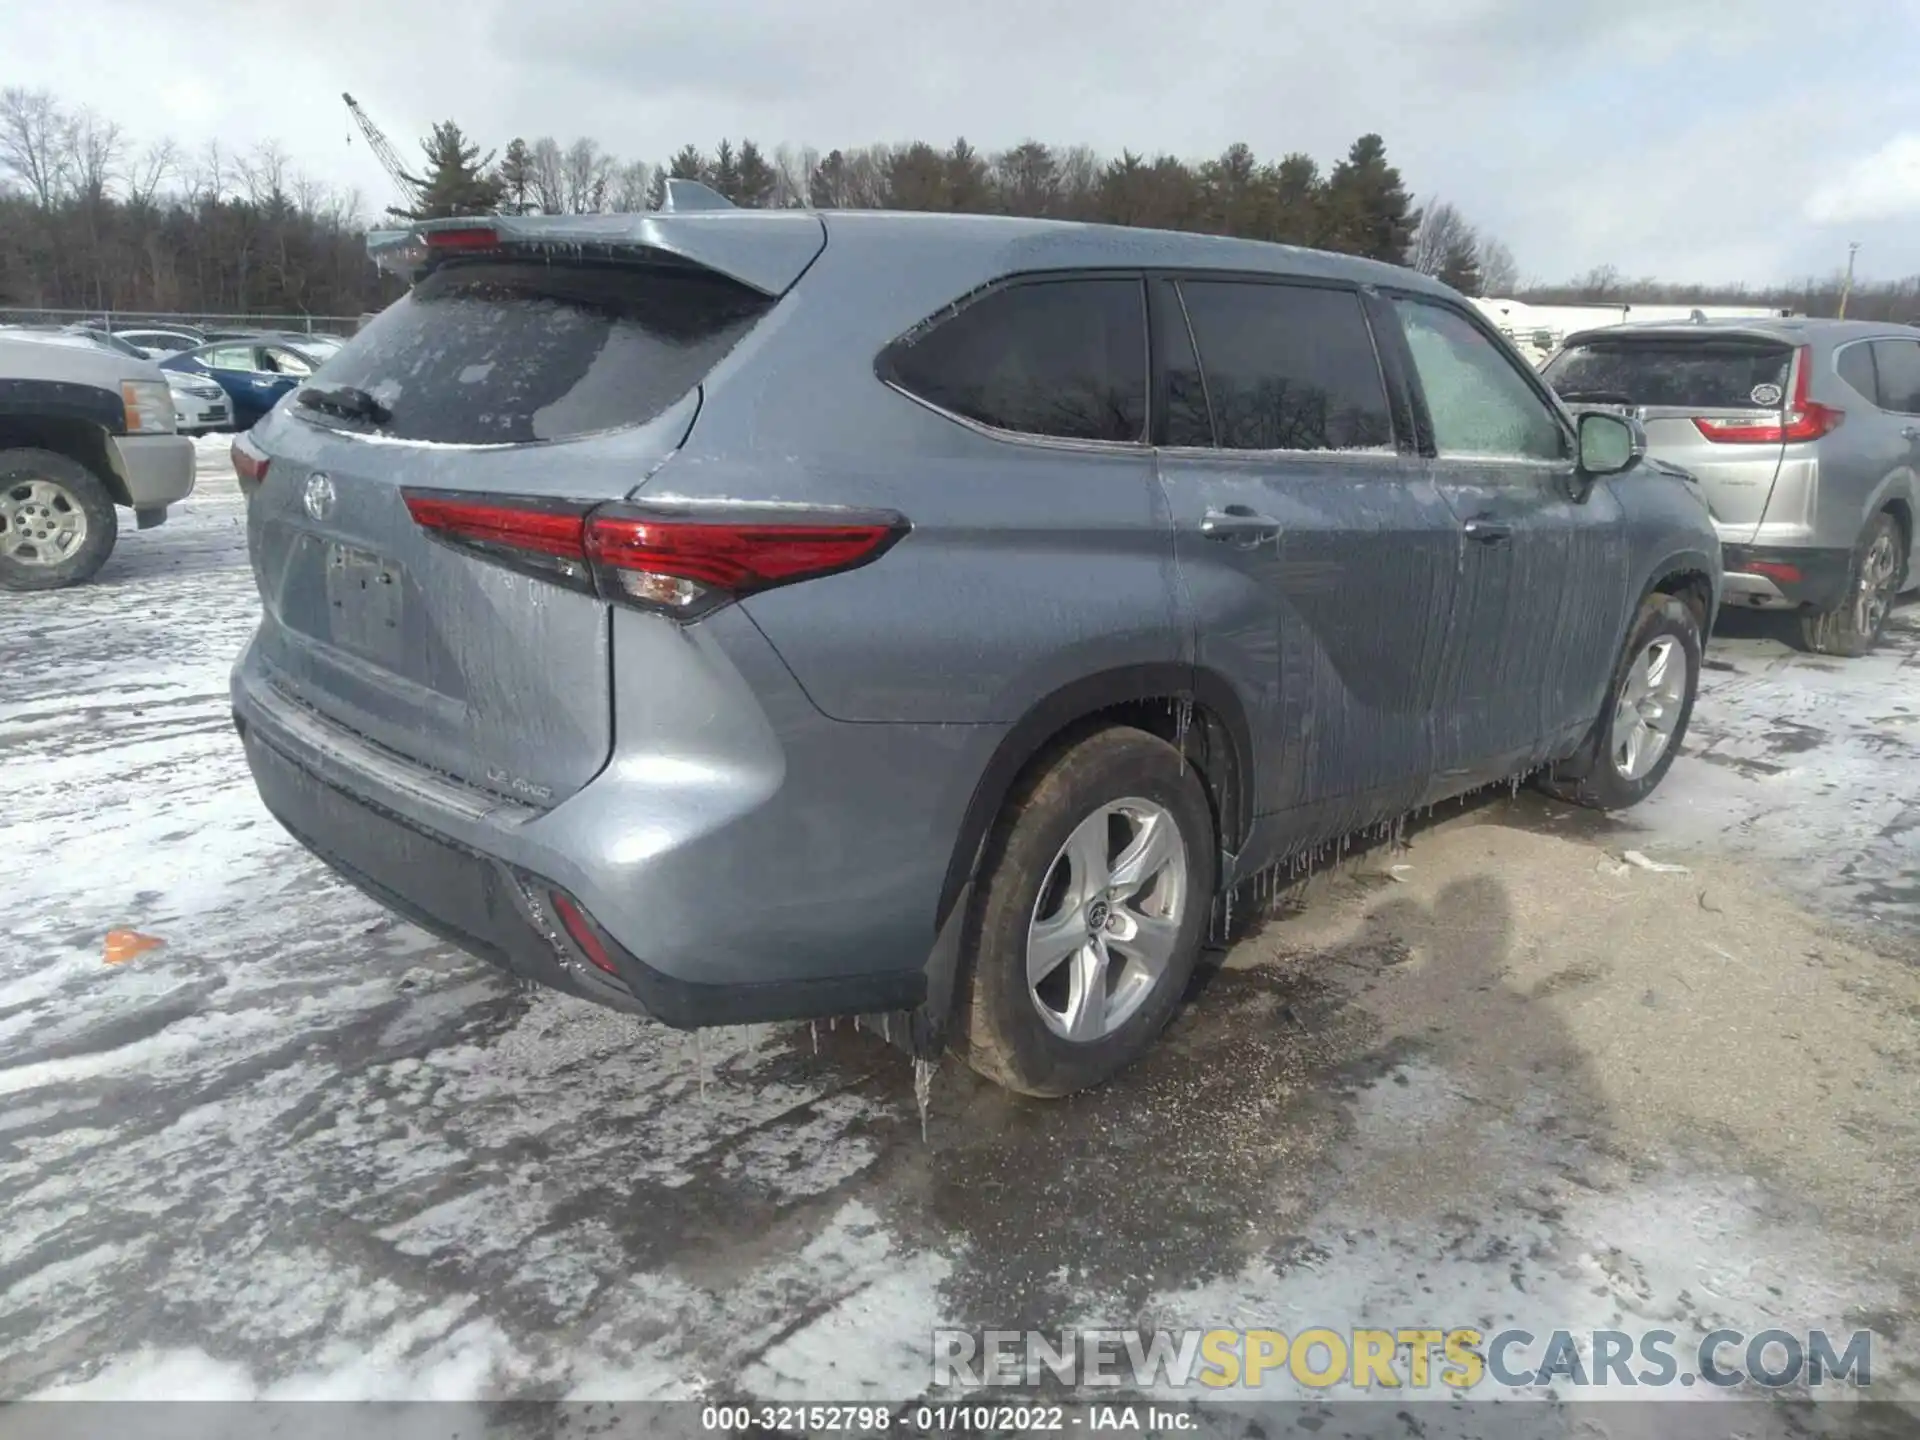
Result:
M995 290L902 336L881 374L970 420L1060 440L1146 438L1140 280L1037 280Z

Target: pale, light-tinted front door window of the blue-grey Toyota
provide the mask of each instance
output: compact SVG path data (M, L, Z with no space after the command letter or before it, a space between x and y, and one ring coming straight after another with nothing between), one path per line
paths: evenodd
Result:
M1515 363L1444 305L1394 300L1440 455L1557 461L1567 438Z

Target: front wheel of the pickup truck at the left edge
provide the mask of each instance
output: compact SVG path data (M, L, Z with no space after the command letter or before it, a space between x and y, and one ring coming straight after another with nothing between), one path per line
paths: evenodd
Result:
M52 449L0 449L0 588L77 586L115 540L119 516L100 476Z

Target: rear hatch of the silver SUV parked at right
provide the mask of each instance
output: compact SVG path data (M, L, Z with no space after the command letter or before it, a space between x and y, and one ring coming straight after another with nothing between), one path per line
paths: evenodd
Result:
M1640 415L1647 451L1688 470L1720 526L1751 541L1793 430L1795 348L1761 332L1596 330L1542 372L1569 405Z

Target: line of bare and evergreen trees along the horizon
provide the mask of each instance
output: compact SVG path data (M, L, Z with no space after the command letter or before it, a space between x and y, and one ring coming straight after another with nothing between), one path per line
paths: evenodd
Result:
M407 205L369 215L265 142L188 156L46 90L0 92L0 305L186 313L357 315L397 294L367 259L369 228L440 215L580 215L659 207L668 179L745 207L922 209L1104 221L1315 246L1409 265L1467 294L1532 303L1638 300L1786 305L1832 315L1836 276L1789 286L1676 286L1597 269L1523 280L1513 252L1453 204L1415 200L1379 134L1331 167L1233 144L1212 159L964 138L851 150L684 146L622 159L589 136L515 138L482 152L455 121L420 142ZM1920 321L1920 276L1857 284L1847 313Z

